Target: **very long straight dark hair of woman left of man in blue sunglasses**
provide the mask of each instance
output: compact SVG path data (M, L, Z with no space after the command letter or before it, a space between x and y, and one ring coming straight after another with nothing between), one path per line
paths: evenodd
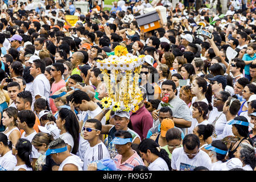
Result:
M62 120L65 119L65 129L72 135L74 140L74 146L71 153L76 154L79 148L79 121L77 120L75 113L67 108L60 109L59 117Z

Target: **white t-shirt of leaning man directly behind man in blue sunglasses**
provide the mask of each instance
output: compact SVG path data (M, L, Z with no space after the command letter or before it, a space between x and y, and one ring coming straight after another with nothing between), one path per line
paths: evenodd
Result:
M81 114L78 114L77 117L79 118L79 121L84 121L86 115L88 114L88 119L93 119L96 117L96 115L100 114L102 111L101 107L98 106L95 110L93 111L82 111ZM106 117L104 116L102 119L101 119L101 124L102 125L105 125L106 124ZM85 121L82 123L82 127L84 127L85 125ZM80 131L80 135L79 135L79 149L77 151L77 154L82 160L84 160L84 152L86 150L86 148L89 147L89 143L87 140L85 140L83 138L83 133L82 131Z

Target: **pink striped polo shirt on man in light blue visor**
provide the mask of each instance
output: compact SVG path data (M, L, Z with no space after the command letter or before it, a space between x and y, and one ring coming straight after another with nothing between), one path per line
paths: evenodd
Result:
M130 158L127 159L122 164L121 164L122 155L118 154L117 156L115 156L113 160L115 162L115 166L117 166L117 171L133 171L133 168L135 166L139 166L139 165L145 166L141 157L137 154L135 150L133 151L134 151L134 154L130 156Z

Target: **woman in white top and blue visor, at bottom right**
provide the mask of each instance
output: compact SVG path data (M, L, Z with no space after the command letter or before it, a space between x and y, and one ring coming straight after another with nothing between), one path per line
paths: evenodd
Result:
M221 171L221 164L226 162L226 154L228 153L228 147L221 140L214 140L208 146L205 146L205 149L209 150L209 156L212 160L212 167L210 171Z

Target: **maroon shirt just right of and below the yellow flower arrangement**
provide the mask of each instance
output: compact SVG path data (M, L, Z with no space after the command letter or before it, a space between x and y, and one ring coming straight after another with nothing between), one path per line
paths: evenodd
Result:
M153 118L145 106L139 108L135 113L130 112L130 121L141 140L147 138L147 132L153 126Z

